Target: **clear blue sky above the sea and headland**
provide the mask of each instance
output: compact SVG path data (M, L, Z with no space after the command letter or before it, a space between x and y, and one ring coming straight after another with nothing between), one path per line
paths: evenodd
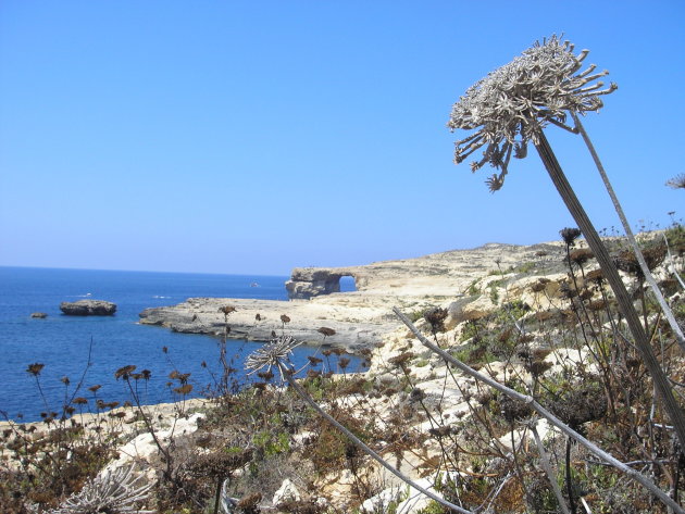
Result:
M452 103L563 33L619 90L585 126L634 225L685 215L685 2L0 2L0 265L287 275L575 226L534 151L490 195ZM598 229L580 138L547 129ZM463 137L463 136L462 136Z

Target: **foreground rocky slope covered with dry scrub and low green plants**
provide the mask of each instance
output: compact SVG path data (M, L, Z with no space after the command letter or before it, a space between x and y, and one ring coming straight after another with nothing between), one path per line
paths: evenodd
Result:
M675 224L643 239L681 324L684 233ZM685 459L650 377L591 252L575 240L566 245L566 276L555 278L560 286L553 297L546 292L551 279L532 275L537 279L528 286L527 302L512 298L509 284L502 283L497 286L501 298L485 315L459 321L436 306L412 321L450 355L530 396L680 504ZM680 349L630 252L620 240L612 245L652 349L683 405ZM298 371L304 396L388 465L412 480L428 479L440 498L465 512L668 512L652 492L557 430L528 404L470 379L411 335L400 330L368 355L370 373L349 373L349 361L340 353L319 352ZM408 489L322 419L298 390L284 387L287 359L283 363L285 367L260 369L254 383L237 388L231 386L226 362L219 380L223 388L215 387L199 411L179 403L165 425L138 404L136 385L146 373L130 365L116 372L130 386L125 405L104 402L91 388L90 398L73 398L59 413L43 413L42 423L9 425L1 435L2 512L396 512L410 498ZM342 373L334 375L333 366ZM40 371L38 363L27 368L37 389ZM170 379L180 399L190 392L183 373L174 371ZM80 413L85 402L97 405L91 417ZM161 427L173 431L198 413L197 430L163 434ZM105 489L102 469L121 456L123 444L146 435L153 436L154 451L120 466L133 477L129 487L121 488L121 498L108 511L78 510L89 505L88 494ZM543 462L551 467L545 471ZM286 479L296 492L276 494ZM382 491L395 493L383 497ZM418 511L450 512L436 501L423 502Z

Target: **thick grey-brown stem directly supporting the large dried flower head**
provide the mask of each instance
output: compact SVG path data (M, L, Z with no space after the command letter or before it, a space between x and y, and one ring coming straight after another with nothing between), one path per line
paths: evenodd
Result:
M683 449L685 449L685 412L677 404L677 401L671 390L671 384L669 383L663 368L659 364L659 361L657 361L657 356L649 343L647 333L639 321L637 311L635 311L635 308L633 306L633 300L625 289L625 285L623 284L613 261L609 256L607 247L605 247L603 242L601 242L599 234L597 234L593 223L585 213L585 209L581 205L573 188L561 170L561 166L557 161L557 156L549 146L543 130L539 130L538 133L535 148L537 149L537 153L539 154L549 177L555 184L557 191L559 191L559 195L569 209L569 212L575 220L575 223L578 224L578 228L585 236L587 245L590 247L590 250L593 250L593 253L601 267L602 274L615 296L619 310L627 323L628 329L635 339L635 347L639 351L645 366L649 371L649 374L655 383L656 390L663 402L663 406L671 419L671 423L673 423L675 434L678 442L681 443L681 451L683 451Z

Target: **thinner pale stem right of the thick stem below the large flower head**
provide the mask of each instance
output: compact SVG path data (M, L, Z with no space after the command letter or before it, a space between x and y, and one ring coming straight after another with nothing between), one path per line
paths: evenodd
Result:
M671 325L671 329L673 330L673 334L675 335L675 340L680 344L681 350L685 351L685 336L683 336L683 330L681 330L681 327L677 324L677 321L675 321L675 316L673 315L673 311L671 310L665 299L663 298L663 294L661 293L661 290L659 289L659 286L657 285L655 277L651 275L651 272L649 271L649 266L647 265L647 262L645 262L645 256L643 255L643 252L640 251L639 246L637 245L637 241L635 240L635 236L633 235L631 225L628 224L627 218L625 217L625 213L623 212L621 202L619 202L619 198L613 191L613 187L611 186L609 176L607 175L607 172L605 171L605 166L599 160L599 155L597 154L597 151L595 150L595 146L593 145L593 141L587 135L587 131L585 130L585 127L581 123L581 120L578 118L577 114L575 114L574 112L571 112L571 116L573 117L573 123L575 123L575 128L577 128L578 133L583 137L583 140L585 141L585 145L587 146L587 149L589 150L590 155L593 156L593 161L595 161L597 171L599 172L599 175L601 176L601 179L605 183L605 187L607 188L607 192L609 193L609 197L611 198L613 208L616 211L619 218L621 220L621 224L623 225L623 229L625 230L625 237L627 238L628 242L631 243L631 247L633 248L633 252L635 253L637 262L639 263L639 267L643 271L643 274L645 275L645 279L647 280L647 284L649 284L651 291L657 298L657 301L659 302L659 305L661 306L661 311L663 311L663 314L665 318L668 319L669 325Z

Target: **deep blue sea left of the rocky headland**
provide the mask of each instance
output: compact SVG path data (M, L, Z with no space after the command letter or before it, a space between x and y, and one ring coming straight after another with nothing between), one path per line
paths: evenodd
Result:
M139 325L138 314L198 297L286 302L287 278L0 266L0 421L34 422L52 412L61 415L63 405L77 397L88 400L80 406L83 412L94 412L97 399L120 404L132 401L126 383L114 377L128 365L137 366L136 372L151 372L149 380L136 383L144 404L180 399L173 391L178 384L170 386L169 375L174 371L190 374L192 391L187 398L205 394L221 376L221 341ZM341 290L353 290L353 284L341 284ZM116 314L82 317L61 313L61 302L83 299L114 302ZM34 312L47 317L33 318ZM227 341L236 388L258 380L246 376L242 363L261 344ZM299 367L315 352L316 348L299 347L292 362ZM362 360L346 358L351 360L347 372L363 369ZM28 373L32 364L43 365L38 375ZM336 362L328 365L338 371ZM100 388L94 392L94 386Z

